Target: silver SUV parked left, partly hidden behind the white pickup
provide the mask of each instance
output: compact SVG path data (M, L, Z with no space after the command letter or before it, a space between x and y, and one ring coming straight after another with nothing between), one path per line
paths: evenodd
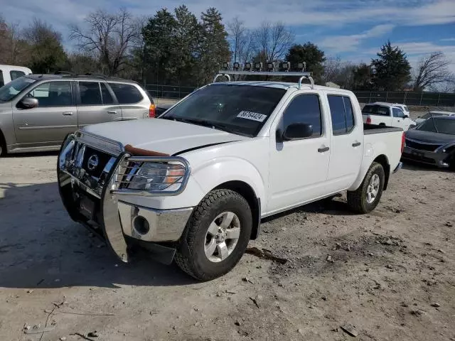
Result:
M75 75L27 75L0 87L0 156L58 150L88 124L155 117L137 82Z

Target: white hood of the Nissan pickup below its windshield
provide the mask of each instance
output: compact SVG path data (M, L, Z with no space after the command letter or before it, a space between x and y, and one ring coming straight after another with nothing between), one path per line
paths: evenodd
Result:
M85 126L82 131L119 141L126 146L173 155L188 149L249 139L196 124L167 119L135 119Z

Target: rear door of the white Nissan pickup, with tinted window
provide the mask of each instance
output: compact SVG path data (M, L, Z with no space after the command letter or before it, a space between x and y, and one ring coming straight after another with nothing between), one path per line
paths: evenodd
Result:
M327 93L332 121L330 166L327 184L335 191L346 190L360 170L363 151L363 122L357 121L348 94Z

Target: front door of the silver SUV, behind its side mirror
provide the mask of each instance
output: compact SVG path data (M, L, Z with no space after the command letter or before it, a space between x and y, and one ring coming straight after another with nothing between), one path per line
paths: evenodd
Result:
M38 99L38 107L13 108L14 130L22 147L58 146L77 129L77 109L73 104L71 82L53 80L36 86L26 94Z

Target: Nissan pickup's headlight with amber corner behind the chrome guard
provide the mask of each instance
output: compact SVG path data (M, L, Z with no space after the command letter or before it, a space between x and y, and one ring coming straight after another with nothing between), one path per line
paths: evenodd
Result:
M134 164L129 169L124 182L129 190L178 190L186 173L182 165L158 162Z

